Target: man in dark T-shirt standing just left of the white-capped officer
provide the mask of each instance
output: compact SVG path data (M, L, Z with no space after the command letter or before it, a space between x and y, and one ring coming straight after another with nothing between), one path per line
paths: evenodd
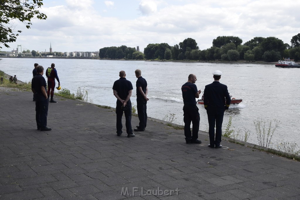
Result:
M200 125L200 114L196 104L196 98L199 98L201 90L197 90L195 82L196 75L190 74L188 80L181 87L183 98L183 121L184 121L184 136L187 144L201 144L198 140L198 131ZM190 123L193 123L192 131L190 131Z

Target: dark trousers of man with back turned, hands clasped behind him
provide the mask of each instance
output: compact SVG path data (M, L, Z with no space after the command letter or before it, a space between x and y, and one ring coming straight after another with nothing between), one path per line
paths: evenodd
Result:
M122 124L122 116L123 116L123 112L125 114L125 126L126 126L126 132L127 134L131 134L132 133L132 127L131 127L131 112L132 112L132 107L131 107L131 101L129 100L127 102L127 110L122 109L122 103L117 100L117 106L116 106L116 114L117 114L117 134L122 134L122 128L123 128L123 124Z

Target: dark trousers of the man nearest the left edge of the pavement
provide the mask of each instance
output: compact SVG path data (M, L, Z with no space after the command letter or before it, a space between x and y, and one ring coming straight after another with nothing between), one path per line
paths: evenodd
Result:
M35 120L37 127L45 128L47 126L48 105L48 99L45 99L44 94L35 93Z

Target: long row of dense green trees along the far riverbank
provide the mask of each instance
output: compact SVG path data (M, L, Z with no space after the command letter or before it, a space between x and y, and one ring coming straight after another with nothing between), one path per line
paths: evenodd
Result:
M208 49L200 50L196 40L186 38L179 44L148 44L144 53L127 46L104 47L99 50L100 58L147 59L147 60L223 60L223 61L278 61L283 58L300 60L300 33L293 36L291 45L277 37L254 37L243 43L235 36L218 36Z

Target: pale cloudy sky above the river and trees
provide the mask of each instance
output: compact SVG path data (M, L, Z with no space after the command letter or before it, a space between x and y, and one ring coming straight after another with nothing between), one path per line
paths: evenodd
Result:
M218 36L277 37L290 44L300 33L300 1L279 0L44 0L46 20L32 19L30 29L14 21L22 33L10 51L98 51L103 47L140 47L149 43L179 44L196 40L208 49Z

